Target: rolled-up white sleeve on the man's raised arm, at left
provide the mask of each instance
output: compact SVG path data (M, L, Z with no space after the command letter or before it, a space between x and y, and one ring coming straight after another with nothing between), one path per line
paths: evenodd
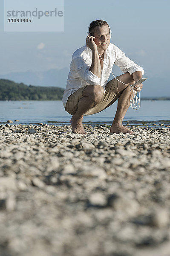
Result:
M91 85L99 85L100 84L100 78L93 74L91 71L89 71L89 68L91 66L88 61L86 61L84 58L77 57L72 60L73 66L75 68L75 72L78 73L78 75L86 81L88 84Z

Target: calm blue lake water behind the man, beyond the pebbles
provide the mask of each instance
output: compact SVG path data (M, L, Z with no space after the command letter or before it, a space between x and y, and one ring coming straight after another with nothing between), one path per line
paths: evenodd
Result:
M84 123L111 124L116 108L117 102L100 113L84 116ZM0 101L0 123L19 119L20 122L14 123L68 125L70 118L61 101ZM170 125L170 101L141 101L141 108L137 111L131 107L128 109L124 124L127 122L131 125Z

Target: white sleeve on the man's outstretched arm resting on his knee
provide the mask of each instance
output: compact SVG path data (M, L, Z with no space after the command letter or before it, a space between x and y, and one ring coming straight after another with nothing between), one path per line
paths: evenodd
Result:
M144 75L144 70L139 65L135 64L134 61L130 60L121 49L116 47L115 51L116 60L114 62L115 65L120 67L121 71L124 73L129 72L132 75L135 71L141 71L142 75Z

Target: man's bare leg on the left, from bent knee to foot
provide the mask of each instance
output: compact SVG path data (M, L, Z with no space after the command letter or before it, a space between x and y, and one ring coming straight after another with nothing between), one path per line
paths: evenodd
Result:
M101 101L104 94L104 88L100 85L88 85L83 90L81 98L78 102L78 109L70 120L72 125L72 131L79 134L85 134L83 128L83 116L92 107L94 107L98 102Z

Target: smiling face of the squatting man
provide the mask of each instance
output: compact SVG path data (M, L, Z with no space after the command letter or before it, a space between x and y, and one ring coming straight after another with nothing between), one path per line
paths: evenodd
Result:
M110 43L109 27L104 25L102 27L96 27L93 33L95 37L94 42L98 47L98 50L106 50Z

